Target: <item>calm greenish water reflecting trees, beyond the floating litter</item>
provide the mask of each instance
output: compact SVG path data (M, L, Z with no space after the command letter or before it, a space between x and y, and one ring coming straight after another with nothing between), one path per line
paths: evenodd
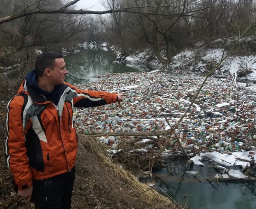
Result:
M98 81L94 76L106 73L149 71L148 66L137 64L113 64L116 55L102 49L84 49L65 57L68 70L66 81L72 84Z

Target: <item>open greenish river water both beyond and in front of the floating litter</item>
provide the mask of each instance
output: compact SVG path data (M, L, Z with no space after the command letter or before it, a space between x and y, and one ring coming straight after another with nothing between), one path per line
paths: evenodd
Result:
M138 64L113 64L116 55L102 49L80 49L79 53L65 57L67 82L81 84L98 81L98 74L149 71L149 66ZM165 169L155 170L154 187L176 201L195 209L255 209L255 183L209 182L205 177L216 174L209 167L193 166L193 171L200 171L196 178L186 174L191 170L188 163L169 162ZM148 179L141 179L148 182Z

